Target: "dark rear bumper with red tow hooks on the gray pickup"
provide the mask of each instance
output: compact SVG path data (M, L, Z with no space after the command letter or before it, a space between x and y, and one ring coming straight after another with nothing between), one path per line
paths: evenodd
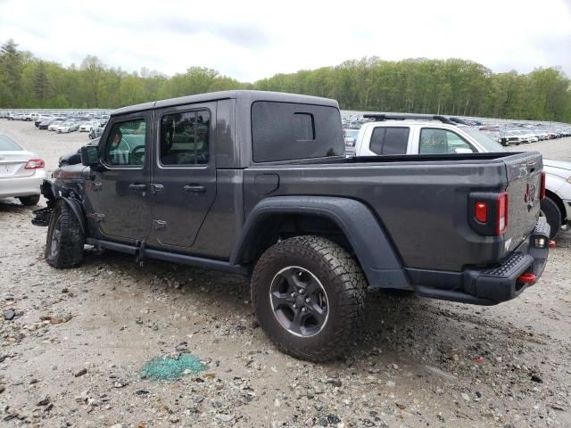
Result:
M539 247L537 243L543 242ZM495 305L511 300L534 285L547 262L550 226L540 218L528 238L508 259L493 268L467 268L463 272L409 269L415 292L423 297L476 305ZM533 274L524 280L522 275Z

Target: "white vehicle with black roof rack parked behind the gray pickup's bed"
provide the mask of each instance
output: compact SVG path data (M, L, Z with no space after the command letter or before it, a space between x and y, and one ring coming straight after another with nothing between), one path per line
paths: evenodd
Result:
M377 156L403 154L506 152L506 149L476 128L458 119L427 114L366 114L374 121L363 124L354 146L346 144L349 155ZM561 226L571 226L571 162L543 159L546 197L542 216L551 226L551 238Z

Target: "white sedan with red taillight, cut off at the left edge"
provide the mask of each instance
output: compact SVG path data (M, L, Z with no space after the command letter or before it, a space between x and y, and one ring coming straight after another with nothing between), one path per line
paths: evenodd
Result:
M18 198L23 205L39 202L39 186L46 179L46 163L0 135L0 199Z

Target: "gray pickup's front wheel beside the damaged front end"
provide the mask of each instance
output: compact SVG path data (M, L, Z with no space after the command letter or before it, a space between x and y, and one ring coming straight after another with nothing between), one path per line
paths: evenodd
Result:
M47 228L47 264L58 269L78 266L83 261L84 242L79 219L65 201L57 201Z

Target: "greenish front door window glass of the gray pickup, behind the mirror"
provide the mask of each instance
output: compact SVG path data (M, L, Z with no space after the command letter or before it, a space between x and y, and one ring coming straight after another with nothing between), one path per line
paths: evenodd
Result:
M108 165L140 167L145 163L146 122L133 119L113 124L103 160Z

